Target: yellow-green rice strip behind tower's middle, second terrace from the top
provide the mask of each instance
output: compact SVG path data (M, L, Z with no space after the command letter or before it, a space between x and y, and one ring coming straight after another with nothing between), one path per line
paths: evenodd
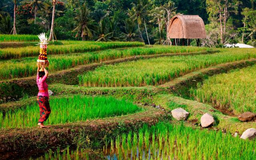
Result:
M92 41L62 41L64 45L49 45L47 53L69 54L91 52L96 50L105 50L110 48L124 48L144 46L142 42L92 42ZM4 48L0 49L0 59L8 60L12 58L22 58L28 56L38 56L39 46L27 46L22 48Z

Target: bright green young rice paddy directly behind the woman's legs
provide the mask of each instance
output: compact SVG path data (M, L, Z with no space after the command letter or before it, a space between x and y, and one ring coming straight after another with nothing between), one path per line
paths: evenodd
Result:
M112 97L88 97L74 95L68 98L50 98L51 114L45 124L64 124L88 119L121 116L141 111L138 106L116 100ZM37 126L39 119L38 104L14 111L0 113L0 128L22 128Z

